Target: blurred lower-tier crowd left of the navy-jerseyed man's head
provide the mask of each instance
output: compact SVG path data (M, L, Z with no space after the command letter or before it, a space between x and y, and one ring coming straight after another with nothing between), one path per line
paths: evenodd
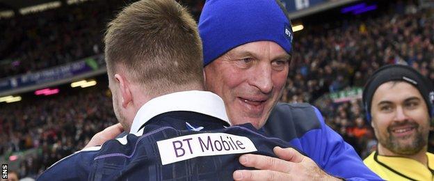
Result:
M63 93L0 109L0 155L8 159L13 152L35 148L35 154L24 157L17 171L35 177L81 150L95 133L118 122L111 95L104 88Z

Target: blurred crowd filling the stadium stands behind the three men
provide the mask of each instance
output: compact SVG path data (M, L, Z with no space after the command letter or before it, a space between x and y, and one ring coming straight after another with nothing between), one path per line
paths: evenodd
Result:
M203 1L183 3L198 18ZM5 64L0 66L0 78L101 54L104 24L122 5L115 0L92 1L89 6L1 20L0 26L7 28L0 29L0 39L6 42L0 44L0 64ZM321 24L296 33L289 79L281 99L314 104L322 97L316 106L325 122L362 158L376 149L362 102L337 103L327 93L363 87L374 70L389 63L407 63L434 80L433 10L419 10L412 3L396 4L391 9L378 17L342 20L332 28ZM83 148L96 132L116 123L111 105L105 88L57 96L38 104L8 104L0 109L0 138L8 140L0 143L0 155L40 150L26 158L19 169L22 176L36 175Z

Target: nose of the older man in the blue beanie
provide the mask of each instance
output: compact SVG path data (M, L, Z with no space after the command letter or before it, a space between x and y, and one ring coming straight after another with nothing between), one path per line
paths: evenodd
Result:
M271 79L271 73L271 65L262 63L254 70L254 72L252 72L250 84L257 87L262 93L271 93L273 90L273 80Z

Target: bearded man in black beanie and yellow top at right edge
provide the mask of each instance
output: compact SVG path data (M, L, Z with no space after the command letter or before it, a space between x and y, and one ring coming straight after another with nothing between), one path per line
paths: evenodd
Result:
M433 180L427 152L433 121L433 84L406 65L386 65L364 86L363 103L378 148L364 163L385 180Z

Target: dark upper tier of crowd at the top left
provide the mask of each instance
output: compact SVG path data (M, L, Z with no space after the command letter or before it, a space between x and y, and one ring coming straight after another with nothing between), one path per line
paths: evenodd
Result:
M0 19L0 79L101 54L106 24L131 1L88 1ZM182 0L196 18L203 2Z

